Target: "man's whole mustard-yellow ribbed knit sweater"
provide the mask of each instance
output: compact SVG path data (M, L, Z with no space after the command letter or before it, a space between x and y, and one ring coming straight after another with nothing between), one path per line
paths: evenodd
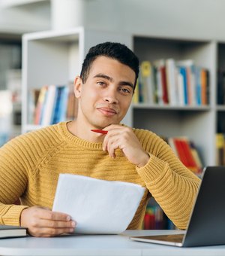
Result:
M129 229L141 227L151 196L178 228L186 228L199 178L154 133L133 131L150 154L141 168L130 163L120 150L112 159L102 150L102 143L72 135L66 123L12 139L0 148L0 224L20 225L20 213L28 206L52 209L58 175L72 173L146 187ZM13 205L18 197L22 206Z

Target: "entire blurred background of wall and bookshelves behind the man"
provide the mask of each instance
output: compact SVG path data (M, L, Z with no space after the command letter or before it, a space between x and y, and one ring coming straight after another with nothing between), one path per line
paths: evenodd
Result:
M125 123L162 136L196 175L224 165L224 10L224 0L0 0L0 146L76 118L83 57L115 39L141 63ZM174 226L152 202L144 228Z

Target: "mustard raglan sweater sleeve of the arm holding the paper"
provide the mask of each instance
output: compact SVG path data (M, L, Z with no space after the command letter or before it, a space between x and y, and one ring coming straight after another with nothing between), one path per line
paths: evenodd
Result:
M29 179L57 145L55 128L43 128L18 136L0 148L0 224L20 225L21 212L28 206L13 203L23 197Z

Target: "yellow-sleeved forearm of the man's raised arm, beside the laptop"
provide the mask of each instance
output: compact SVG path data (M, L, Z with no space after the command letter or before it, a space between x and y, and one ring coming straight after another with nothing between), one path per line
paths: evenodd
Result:
M185 229L200 180L178 160L172 166L173 169L166 161L151 155L148 163L136 170L175 226Z

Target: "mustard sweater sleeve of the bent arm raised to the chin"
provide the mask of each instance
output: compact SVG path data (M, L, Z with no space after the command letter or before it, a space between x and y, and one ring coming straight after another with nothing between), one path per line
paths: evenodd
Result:
M175 226L185 229L200 179L187 169L169 145L154 133L145 135L142 145L150 159L145 166L136 167L136 171Z

